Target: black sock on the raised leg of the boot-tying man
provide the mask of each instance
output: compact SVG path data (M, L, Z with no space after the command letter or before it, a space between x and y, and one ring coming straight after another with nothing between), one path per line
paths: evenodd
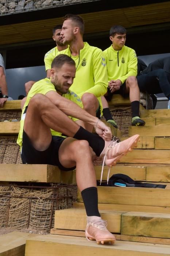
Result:
M97 134L88 132L81 126L73 138L78 140L87 140L90 147L93 148L93 151L97 155L97 157L100 156L105 146L105 142L100 136L98 136Z

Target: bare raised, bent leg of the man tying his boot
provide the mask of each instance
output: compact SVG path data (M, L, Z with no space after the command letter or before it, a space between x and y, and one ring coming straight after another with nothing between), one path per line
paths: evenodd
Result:
M59 110L49 98L35 94L30 99L24 131L36 150L44 151L51 143L50 128L73 137L80 126ZM69 127L69 130L68 130Z

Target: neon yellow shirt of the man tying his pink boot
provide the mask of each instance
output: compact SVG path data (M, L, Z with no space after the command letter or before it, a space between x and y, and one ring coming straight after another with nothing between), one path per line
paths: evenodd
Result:
M38 82L36 82L32 87L31 90L29 91L28 95L27 95L27 100L24 104L23 110L22 110L22 115L21 115L21 121L20 121L20 131L19 131L19 135L18 135L18 140L17 143L20 145L20 148L22 146L22 138L23 138L23 127L24 127L24 119L26 114L24 114L25 108L26 106L28 106L28 103L30 101L30 99L37 93L41 93L41 94L46 94L49 91L56 91L54 85L51 83L49 78L45 78L42 80L39 80ZM83 108L81 99L78 97L78 95L76 93L74 93L73 91L69 90L66 94L63 94L62 97L66 98L66 99L70 99L71 101L73 101L74 103L76 103L77 105L79 105L81 108ZM71 117L69 116L73 121L78 120L77 118ZM55 136L62 136L60 132L54 131L51 129L51 134L55 135ZM64 136L62 136L64 137Z

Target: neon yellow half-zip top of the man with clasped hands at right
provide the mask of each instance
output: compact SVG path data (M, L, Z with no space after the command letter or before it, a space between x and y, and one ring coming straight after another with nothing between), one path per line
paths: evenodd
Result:
M107 64L108 81L120 79L122 83L128 76L137 75L137 57L136 52L130 47L123 46L121 50L116 51L112 45L104 50Z

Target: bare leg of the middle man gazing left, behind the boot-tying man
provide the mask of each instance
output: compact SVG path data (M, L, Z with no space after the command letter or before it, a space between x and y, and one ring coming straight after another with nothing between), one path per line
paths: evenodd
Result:
M92 93L85 93L82 95L81 101L83 103L84 110L86 110L92 116L96 116L96 110L100 108L100 105L96 96L94 96L94 94ZM84 125L87 131L89 132L93 131L92 125L88 123L85 123Z

